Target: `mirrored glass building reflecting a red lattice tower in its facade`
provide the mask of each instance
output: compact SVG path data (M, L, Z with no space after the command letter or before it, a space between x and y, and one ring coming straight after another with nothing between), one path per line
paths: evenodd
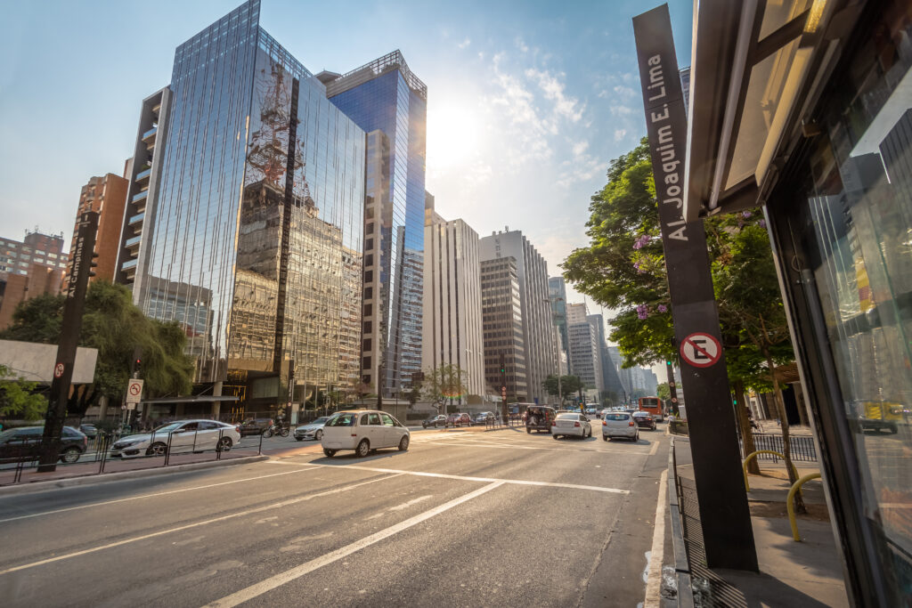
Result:
M366 152L259 12L178 46L143 102L120 266L184 327L196 381L253 409L357 389Z

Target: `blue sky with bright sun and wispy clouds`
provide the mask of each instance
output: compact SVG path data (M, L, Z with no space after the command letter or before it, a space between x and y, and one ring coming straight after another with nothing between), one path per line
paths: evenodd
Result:
M37 228L68 242L79 189L123 172L140 102L169 83L175 47L240 4L0 0L0 236ZM523 231L554 276L586 246L610 160L645 135L631 18L658 4L263 0L260 24L314 73L401 50L428 86L437 211L480 236ZM668 6L683 67L693 5Z

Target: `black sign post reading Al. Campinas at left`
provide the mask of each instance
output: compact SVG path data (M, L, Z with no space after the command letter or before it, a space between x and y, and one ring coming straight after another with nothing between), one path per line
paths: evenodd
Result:
M41 455L38 457L38 471L57 469L60 456L60 434L67 418L69 388L73 381L73 366L76 363L76 349L79 344L79 330L82 328L82 309L86 304L88 277L95 265L95 233L98 232L98 213L86 211L79 216L73 261L69 269L69 281L63 304L63 328L60 344L57 345L57 361L54 364L54 378L51 380L50 402L47 404L45 434L41 439Z

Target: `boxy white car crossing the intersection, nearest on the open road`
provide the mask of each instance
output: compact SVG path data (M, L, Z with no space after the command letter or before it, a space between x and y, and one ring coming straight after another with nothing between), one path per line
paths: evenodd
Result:
M386 412L360 409L353 412L339 412L326 421L323 427L323 453L329 458L336 456L340 449L354 449L359 458L364 458L372 449L409 449L411 434L394 417Z

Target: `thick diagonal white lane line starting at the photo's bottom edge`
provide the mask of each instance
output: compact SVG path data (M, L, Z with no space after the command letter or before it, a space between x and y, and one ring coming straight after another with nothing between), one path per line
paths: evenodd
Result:
M483 488L476 489L475 491L464 494L458 499L450 500L449 502L444 502L439 507L434 507L431 510L426 510L423 513L420 513L414 517L410 517L408 520L400 521L396 525L390 526L385 530L381 530L371 534L368 537L361 539L360 541L352 542L345 547L337 549L326 553L326 555L321 555L320 557L311 560L310 562L302 563L300 566L295 566L291 570L286 570L285 572L280 572L275 576L271 576L264 581L257 582L245 589L242 589L239 592L232 593L223 597L221 600L216 600L215 602L206 604L203 608L230 608L231 606L236 606L240 603L247 602L248 600L254 599L258 595L262 595L266 592L272 591L276 587L284 585L286 582L292 582L295 579L301 578L309 572L314 572L315 570L322 568L332 562L338 562L344 557L351 555L357 551L369 547L372 544L375 544L379 541L389 538L393 534L397 534L400 531L408 530L412 526L415 526L421 523L424 520L430 520L430 518L440 513L451 510L453 507L461 505L463 502L472 500L484 494L485 492L490 492L494 488L502 486L502 481L495 481Z

